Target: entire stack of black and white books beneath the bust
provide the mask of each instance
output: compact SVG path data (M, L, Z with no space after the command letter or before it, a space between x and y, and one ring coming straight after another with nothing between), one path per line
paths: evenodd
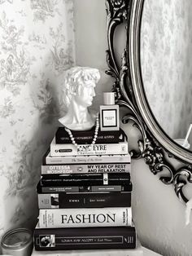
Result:
M123 130L59 127L37 184L36 250L134 249L131 159Z

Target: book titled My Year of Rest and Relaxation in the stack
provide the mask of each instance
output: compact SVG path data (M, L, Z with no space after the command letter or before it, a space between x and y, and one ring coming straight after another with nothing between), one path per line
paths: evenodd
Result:
M127 173L131 164L89 164L89 165L49 165L41 166L41 174L93 174L93 173Z

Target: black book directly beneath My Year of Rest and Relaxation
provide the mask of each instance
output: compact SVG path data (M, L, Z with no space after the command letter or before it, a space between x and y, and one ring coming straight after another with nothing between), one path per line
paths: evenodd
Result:
M130 182L125 174L50 174L41 176L43 186L124 185Z

